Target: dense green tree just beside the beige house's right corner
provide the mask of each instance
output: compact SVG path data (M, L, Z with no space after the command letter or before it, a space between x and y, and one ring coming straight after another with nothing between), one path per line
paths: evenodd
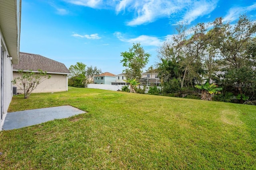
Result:
M85 87L88 81L86 77L86 64L77 62L76 65L71 65L68 69L71 73L68 85L72 86L71 82L74 82L75 87Z

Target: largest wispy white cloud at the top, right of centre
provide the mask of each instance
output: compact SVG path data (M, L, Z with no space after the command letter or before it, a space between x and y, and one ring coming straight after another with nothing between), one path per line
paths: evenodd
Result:
M179 22L191 23L198 17L209 15L216 8L217 3L218 0L121 0L116 5L116 12L118 14L125 9L134 11L135 18L127 23L130 26L184 13Z

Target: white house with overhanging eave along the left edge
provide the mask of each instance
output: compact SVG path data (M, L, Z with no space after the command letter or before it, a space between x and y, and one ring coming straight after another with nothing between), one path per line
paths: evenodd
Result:
M0 0L1 115L0 130L12 100L12 64L20 51L20 0Z

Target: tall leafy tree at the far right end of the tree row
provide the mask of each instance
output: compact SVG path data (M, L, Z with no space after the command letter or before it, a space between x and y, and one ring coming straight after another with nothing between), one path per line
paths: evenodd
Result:
M246 94L253 98L255 91L255 33L256 23L247 16L240 16L234 25L214 21L211 30L213 45L218 49L226 68L220 79L224 90L236 95ZM255 97L254 97L255 98Z

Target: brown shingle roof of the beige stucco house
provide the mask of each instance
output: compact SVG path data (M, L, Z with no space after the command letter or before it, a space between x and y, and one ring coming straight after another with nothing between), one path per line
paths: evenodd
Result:
M19 64L13 64L13 70L37 71L38 69L48 73L70 74L70 71L63 63L38 54L20 52Z

